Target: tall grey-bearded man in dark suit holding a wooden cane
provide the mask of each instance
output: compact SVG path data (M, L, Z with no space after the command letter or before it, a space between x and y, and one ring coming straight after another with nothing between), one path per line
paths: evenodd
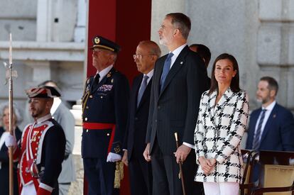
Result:
M197 165L192 148L200 97L208 84L202 59L187 46L190 29L190 18L185 14L169 13L158 30L159 43L170 52L157 60L154 69L143 153L147 161L151 160L155 195L183 194L177 164L181 162L186 193L200 194L197 190L201 185L194 182Z

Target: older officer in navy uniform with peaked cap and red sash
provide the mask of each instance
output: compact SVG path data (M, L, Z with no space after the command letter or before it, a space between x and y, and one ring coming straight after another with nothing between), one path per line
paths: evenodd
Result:
M114 69L119 45L101 36L95 36L92 43L97 74L87 79L82 96L82 158L88 194L111 195L118 193L114 171L122 155L129 82Z

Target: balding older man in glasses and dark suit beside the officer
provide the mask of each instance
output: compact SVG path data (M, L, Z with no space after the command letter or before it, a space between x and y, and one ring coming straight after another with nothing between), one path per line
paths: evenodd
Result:
M143 151L146 147L146 128L153 69L160 55L159 46L151 40L141 41L134 55L138 72L142 74L134 78L131 89L129 119L124 138L125 151L122 160L126 166L129 166L132 195L152 194L151 163L146 162Z

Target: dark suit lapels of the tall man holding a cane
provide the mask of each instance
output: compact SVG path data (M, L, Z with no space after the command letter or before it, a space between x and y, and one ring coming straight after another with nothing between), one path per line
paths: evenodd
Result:
M185 48L183 48L183 50L180 52L180 54L178 55L177 59L175 60L175 62L173 63L173 66L171 67L170 71L168 72L168 75L166 76L165 82L163 84L163 90L160 91L160 94L163 94L163 91L165 90L166 87L168 87L168 84L170 84L171 80L173 79L173 77L175 77L175 74L177 74L177 72L180 70L180 68L185 65L185 56L187 55L187 51L190 50L187 46L185 46ZM165 57L166 59L166 57ZM162 69L161 68L161 73L162 73ZM160 74L161 76L161 74Z

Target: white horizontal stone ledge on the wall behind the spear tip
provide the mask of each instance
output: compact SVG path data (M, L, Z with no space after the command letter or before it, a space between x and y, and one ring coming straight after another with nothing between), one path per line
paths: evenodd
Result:
M14 41L13 60L85 61L85 43ZM0 59L9 57L9 42L0 41Z

